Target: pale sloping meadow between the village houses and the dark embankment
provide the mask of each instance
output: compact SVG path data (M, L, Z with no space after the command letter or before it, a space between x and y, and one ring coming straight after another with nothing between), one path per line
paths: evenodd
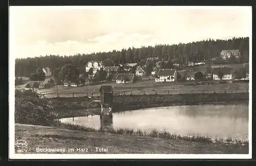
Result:
M182 85L180 82L154 82L154 80L145 80L128 84L116 84L115 82L102 85L112 86L115 95L122 95L125 91L126 95L143 95L143 94L187 94L187 93L244 93L249 89L249 84L246 82L233 82L226 84L211 84L211 85ZM186 84L186 83L185 83ZM81 87L58 87L59 97L82 97L91 96L91 93L98 95L100 85L81 86ZM157 91L157 92L156 92ZM51 89L38 90L39 93L48 94L46 97L56 97L56 87Z

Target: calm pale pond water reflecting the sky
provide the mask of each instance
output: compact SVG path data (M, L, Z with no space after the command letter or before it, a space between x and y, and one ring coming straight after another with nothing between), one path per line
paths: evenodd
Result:
M186 105L113 113L113 128L169 131L179 135L204 135L212 139L248 139L248 104ZM100 116L62 118L61 122L100 128Z

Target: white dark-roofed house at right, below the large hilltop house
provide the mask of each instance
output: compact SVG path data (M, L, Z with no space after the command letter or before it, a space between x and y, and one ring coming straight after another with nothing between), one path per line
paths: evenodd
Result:
M212 79L220 80L219 73L223 73L222 80L232 79L232 67L223 66L223 67L214 67L212 69Z

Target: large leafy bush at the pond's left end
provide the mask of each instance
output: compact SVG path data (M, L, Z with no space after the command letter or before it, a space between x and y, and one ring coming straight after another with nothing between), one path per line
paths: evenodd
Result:
M32 90L15 90L15 123L58 126L58 115L49 112L51 101Z

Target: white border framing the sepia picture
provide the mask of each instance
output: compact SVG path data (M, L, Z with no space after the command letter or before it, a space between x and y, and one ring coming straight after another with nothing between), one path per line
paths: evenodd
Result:
M31 8L34 6L26 7ZM54 8L56 9L63 9L67 8L70 9L71 6L52 6L47 8ZM108 8L145 8L142 6L109 6ZM147 6L152 8L151 6ZM16 7L12 7L16 8ZM44 7L37 7L37 8L44 8ZM99 9L99 8L106 8L105 6L72 6L75 9ZM155 7L155 8L166 8L164 6ZM172 7L174 9L184 9L184 8L192 8L192 9L230 9L230 8L250 8L251 7L239 7L239 6L175 6ZM8 12L9 16L9 12ZM251 15L252 20L252 15ZM13 26L8 26L9 28ZM250 32L249 36L249 123L248 123L248 140L249 140L249 154L15 154L14 153L14 94L15 89L10 88L14 87L15 82L15 58L12 55L12 50L9 50L9 159L250 159L252 157L252 21L248 27L248 31ZM9 34L9 38L12 34ZM9 43L11 44L11 43ZM10 144L13 143L13 144Z

